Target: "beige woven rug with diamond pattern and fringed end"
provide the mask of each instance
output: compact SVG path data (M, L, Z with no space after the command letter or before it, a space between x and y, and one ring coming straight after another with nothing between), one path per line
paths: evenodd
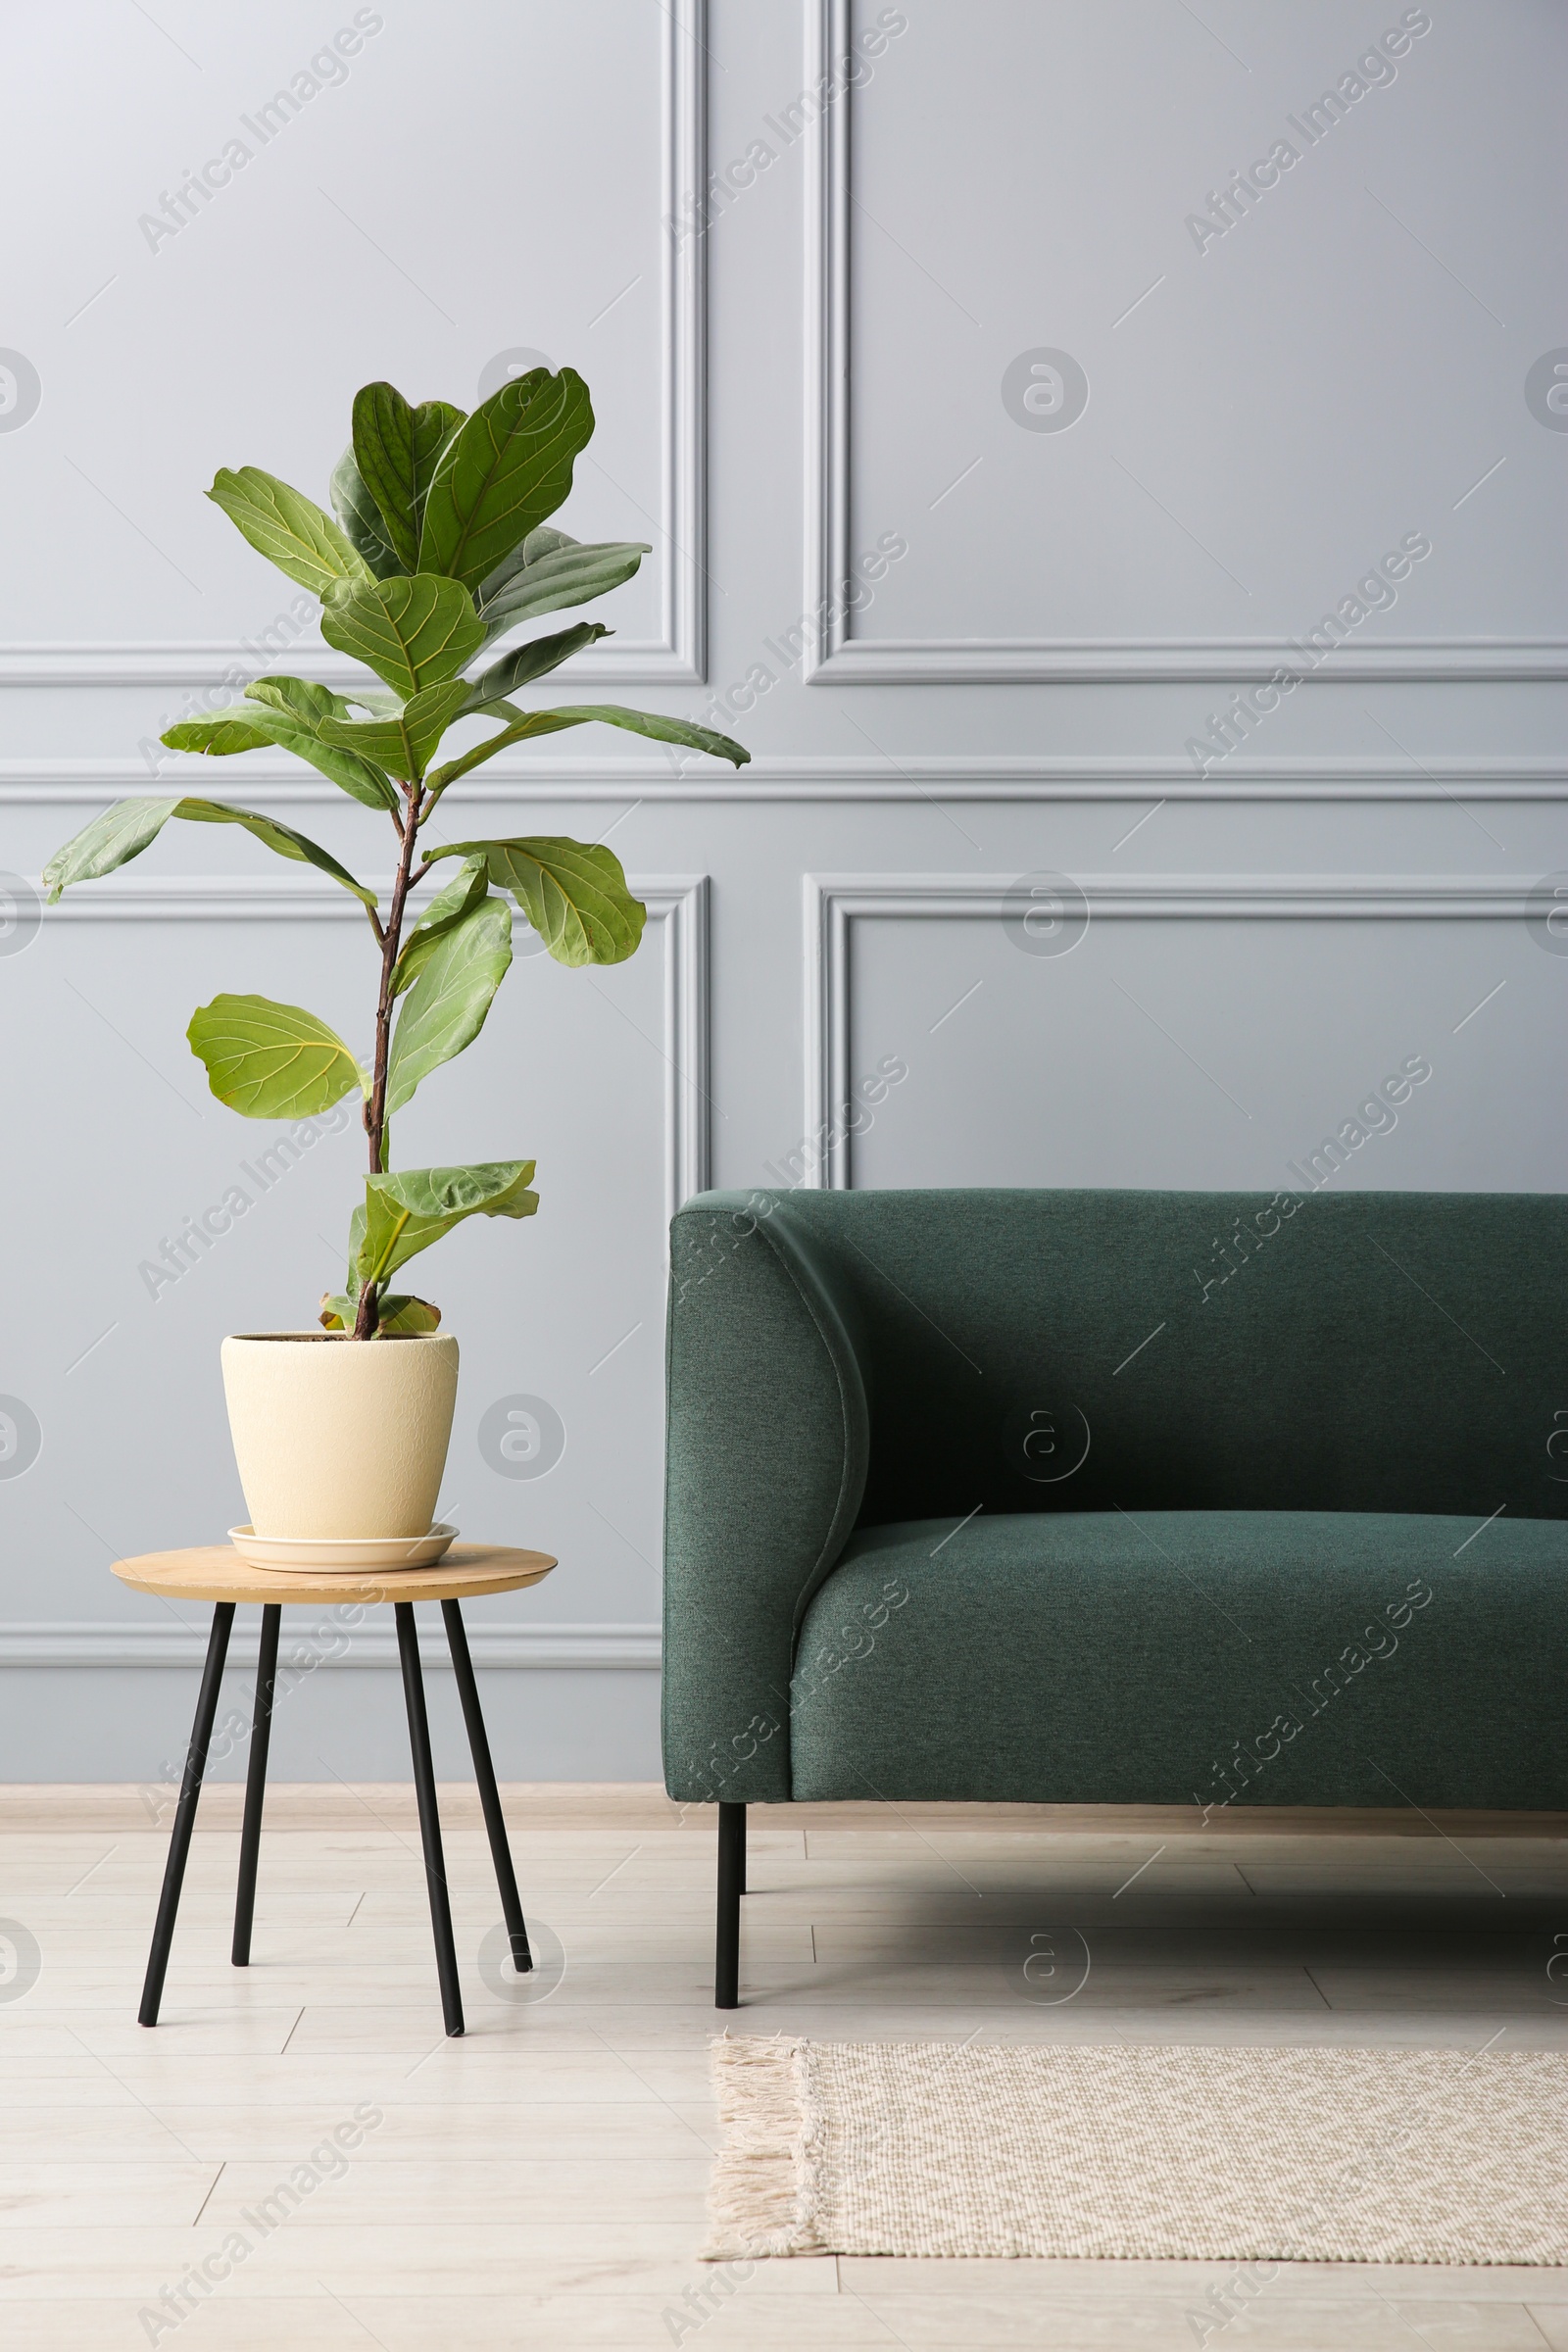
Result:
M712 2260L1568 2263L1568 2053L712 2044Z

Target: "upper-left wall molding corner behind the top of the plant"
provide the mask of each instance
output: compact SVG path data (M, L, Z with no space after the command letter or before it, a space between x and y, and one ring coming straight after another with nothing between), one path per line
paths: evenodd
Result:
M705 259L708 240L677 247L665 221L708 176L708 0L661 0L661 496L654 522L658 637L616 637L578 654L562 680L618 684L703 684L708 675L708 419ZM583 463L590 463L585 452ZM0 644L0 687L233 687L280 663L322 684L364 684L369 670L315 640L268 649L259 640Z

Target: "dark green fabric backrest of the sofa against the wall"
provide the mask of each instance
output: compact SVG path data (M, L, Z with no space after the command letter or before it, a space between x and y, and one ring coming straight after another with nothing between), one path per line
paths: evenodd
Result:
M842 1315L870 1423L858 1524L1568 1517L1559 1195L788 1192L684 1218L715 1209L762 1209Z

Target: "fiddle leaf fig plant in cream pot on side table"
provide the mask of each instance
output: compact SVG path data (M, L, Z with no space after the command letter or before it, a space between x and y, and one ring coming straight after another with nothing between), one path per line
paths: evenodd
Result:
M503 640L618 588L649 553L642 541L581 543L548 522L590 433L588 386L569 367L503 383L473 416L367 383L331 475L336 522L259 466L223 468L207 492L261 555L322 600L327 644L381 684L334 694L308 677L259 677L233 708L169 727L162 741L212 757L282 748L308 760L390 823L397 863L386 908L292 826L183 793L118 802L45 868L54 903L73 882L139 856L172 818L244 826L364 906L378 974L369 1068L315 1014L270 997L219 995L188 1028L212 1091L249 1120L310 1117L355 1087L364 1105L364 1200L350 1218L343 1289L322 1298L320 1329L223 1341L240 1482L263 1538L430 1531L458 1350L437 1329L440 1308L397 1277L463 1218L531 1216L538 1195L531 1160L393 1169L390 1120L480 1035L512 960L508 901L562 964L618 964L642 938L644 908L611 849L562 837L435 840L425 828L444 793L498 750L590 720L736 767L750 757L729 736L649 710L524 710L512 699L609 630L578 621L505 649ZM454 727L470 736L437 760ZM416 913L409 894L447 861L451 880Z

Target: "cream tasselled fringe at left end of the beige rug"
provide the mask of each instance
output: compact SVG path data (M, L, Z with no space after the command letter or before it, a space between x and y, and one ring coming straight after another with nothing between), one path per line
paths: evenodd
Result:
M825 2253L811 2044L726 2034L712 2044L712 2084L726 2140L708 2192L710 2239L701 2260Z

